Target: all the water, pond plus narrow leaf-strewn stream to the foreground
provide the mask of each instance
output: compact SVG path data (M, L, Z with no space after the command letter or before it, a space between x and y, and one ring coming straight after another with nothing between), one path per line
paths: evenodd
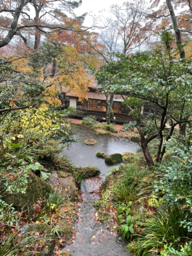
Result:
M63 150L62 154L68 155L75 165L89 164L99 167L101 175L81 183L81 204L76 224L76 239L62 251L71 253L73 256L130 256L131 253L126 252L125 241L97 221L97 211L92 206L92 202L98 200L98 188L108 173L108 168L111 167L105 164L104 159L97 158L96 152L135 153L138 145L126 138L98 136L94 131L81 125L73 125L73 130L78 142L69 151ZM84 144L86 139L95 139L97 144L86 145Z

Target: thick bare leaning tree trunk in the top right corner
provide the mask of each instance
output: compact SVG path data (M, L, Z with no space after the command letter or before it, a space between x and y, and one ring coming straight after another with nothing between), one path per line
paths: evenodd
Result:
M175 16L174 8L173 8L172 4L170 3L170 0L166 0L166 4L167 4L167 7L169 9L170 17L172 18L172 22L173 22L173 25L174 25L174 31L175 31L175 35L176 35L177 46L179 46L179 45L182 44L181 31L180 31L180 29L178 27L178 24L177 24L177 18ZM179 51L179 55L180 55L180 58L185 58L185 51L183 49L181 49Z

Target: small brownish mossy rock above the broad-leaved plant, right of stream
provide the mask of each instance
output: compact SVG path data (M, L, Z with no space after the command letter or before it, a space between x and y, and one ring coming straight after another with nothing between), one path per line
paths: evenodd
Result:
M132 203L131 209L133 217L139 216L140 221L144 220L144 215L146 215L144 204L146 203L147 200L145 198L140 198Z

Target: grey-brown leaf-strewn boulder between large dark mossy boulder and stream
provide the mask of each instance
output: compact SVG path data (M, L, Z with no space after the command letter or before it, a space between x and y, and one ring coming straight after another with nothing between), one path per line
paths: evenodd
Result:
M59 178L58 174L56 172L53 172L50 175L48 182L55 188L60 187L62 193L70 197L71 201L76 200L77 187L75 185L73 177L69 176L66 178Z

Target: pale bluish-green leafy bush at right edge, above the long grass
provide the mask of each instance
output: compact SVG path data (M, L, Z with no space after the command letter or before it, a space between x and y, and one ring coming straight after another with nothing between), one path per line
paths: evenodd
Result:
M155 182L156 193L165 194L164 199L169 203L179 205L192 205L192 146L186 148L176 140L168 144L168 149L173 153L170 161L163 162L159 167L162 178Z

